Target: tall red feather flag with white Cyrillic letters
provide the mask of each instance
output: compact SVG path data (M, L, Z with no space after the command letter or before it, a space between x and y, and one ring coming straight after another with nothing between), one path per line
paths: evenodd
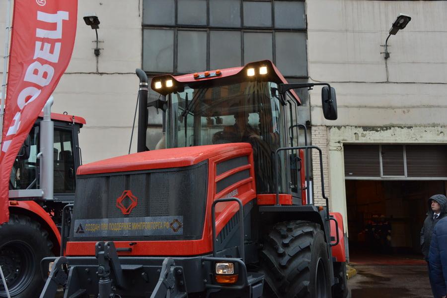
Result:
M0 224L14 160L70 62L77 0L15 0L0 150Z

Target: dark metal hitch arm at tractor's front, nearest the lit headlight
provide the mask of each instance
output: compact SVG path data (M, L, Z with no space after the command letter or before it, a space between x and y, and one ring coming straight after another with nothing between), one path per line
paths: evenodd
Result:
M175 280L175 262L171 257L163 260L160 277L150 298L183 298L185 292L180 292Z

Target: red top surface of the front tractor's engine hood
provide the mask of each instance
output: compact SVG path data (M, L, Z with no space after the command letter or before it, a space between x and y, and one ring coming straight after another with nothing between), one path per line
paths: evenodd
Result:
M142 171L187 167L237 149L251 148L248 143L160 149L109 158L77 168L77 175Z

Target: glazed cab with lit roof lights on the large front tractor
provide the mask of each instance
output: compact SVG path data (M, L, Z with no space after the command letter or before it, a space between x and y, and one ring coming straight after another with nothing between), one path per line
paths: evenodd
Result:
M157 76L152 89L164 95L165 101L149 106L166 113L166 148L250 143L257 193L274 193L275 152L289 145L287 128L297 119L300 104L293 91L286 98L280 96L282 83L287 82L268 60L213 72ZM293 114L286 113L289 108ZM279 158L280 167L290 162L284 152ZM285 171L280 173L284 173L281 181L289 180ZM293 176L296 185L298 176ZM280 188L285 186L281 181Z

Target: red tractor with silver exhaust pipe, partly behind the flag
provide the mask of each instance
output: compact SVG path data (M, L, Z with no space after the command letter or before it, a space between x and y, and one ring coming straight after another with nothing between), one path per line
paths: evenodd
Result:
M0 266L12 298L36 297L42 290L40 260L60 255L63 210L74 201L81 164L77 134L85 120L50 113L51 104L52 99L10 174L9 221L0 225ZM8 297L1 278L0 297Z

